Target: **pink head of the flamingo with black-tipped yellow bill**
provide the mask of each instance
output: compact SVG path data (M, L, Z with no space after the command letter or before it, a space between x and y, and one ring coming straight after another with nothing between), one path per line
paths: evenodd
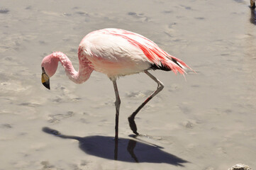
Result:
M44 57L42 67L42 84L50 90L50 77L52 77L57 70L58 60L53 53Z

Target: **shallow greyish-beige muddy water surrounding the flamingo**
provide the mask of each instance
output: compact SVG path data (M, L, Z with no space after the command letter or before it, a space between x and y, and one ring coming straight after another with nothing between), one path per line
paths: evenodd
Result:
M0 169L255 169L256 14L249 3L2 0ZM50 91L40 83L45 55L62 51L78 68L80 40L100 28L145 35L197 72L187 81L152 72L165 89L135 119L145 134L136 138L127 117L156 84L145 74L118 79L117 155L115 97L104 74L77 85L59 67Z

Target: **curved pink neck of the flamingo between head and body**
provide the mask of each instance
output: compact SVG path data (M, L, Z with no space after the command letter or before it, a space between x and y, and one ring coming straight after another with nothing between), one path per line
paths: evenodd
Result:
M89 79L93 69L89 67L87 63L83 63L79 60L79 71L77 72L74 69L72 62L69 60L67 55L63 54L62 52L53 52L52 55L54 57L57 57L59 62L65 68L67 77L69 77L69 79L72 80L74 83L82 84L84 81L87 81L87 79Z

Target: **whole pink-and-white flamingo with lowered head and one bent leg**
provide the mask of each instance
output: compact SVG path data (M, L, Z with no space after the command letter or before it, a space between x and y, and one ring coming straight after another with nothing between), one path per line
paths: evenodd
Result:
M116 84L118 77L145 72L157 83L157 89L128 117L130 129L135 135L139 135L134 120L135 115L164 88L164 84L148 70L172 70L175 74L179 72L184 75L185 69L191 69L182 60L169 55L143 35L116 28L95 30L87 34L79 44L78 59L79 71L77 72L72 62L62 52L53 52L44 57L41 63L42 83L50 89L50 77L55 74L58 62L65 68L67 77L76 84L87 81L94 70L106 74L113 82L116 95L115 140L118 140L118 118L121 105Z

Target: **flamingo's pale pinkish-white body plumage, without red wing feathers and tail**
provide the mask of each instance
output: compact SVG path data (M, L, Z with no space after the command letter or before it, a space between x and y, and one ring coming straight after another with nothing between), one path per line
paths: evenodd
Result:
M79 45L80 57L87 58L95 71L111 79L143 72L150 67L150 61L138 47L111 33L98 30L85 36Z

